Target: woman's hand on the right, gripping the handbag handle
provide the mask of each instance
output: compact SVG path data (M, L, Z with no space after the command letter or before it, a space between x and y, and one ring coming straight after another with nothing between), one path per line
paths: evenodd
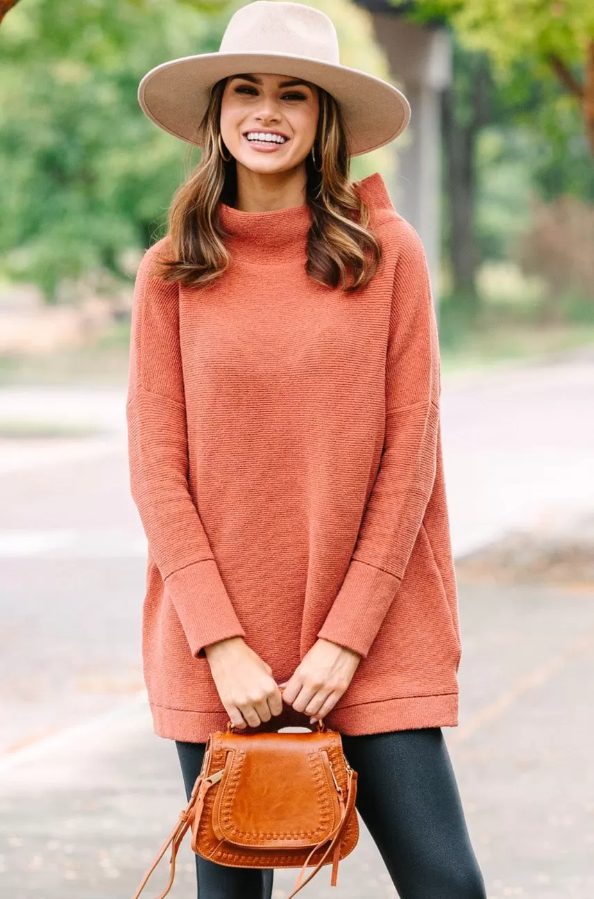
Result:
M361 655L345 646L318 639L286 682L283 699L311 717L328 715L353 680Z

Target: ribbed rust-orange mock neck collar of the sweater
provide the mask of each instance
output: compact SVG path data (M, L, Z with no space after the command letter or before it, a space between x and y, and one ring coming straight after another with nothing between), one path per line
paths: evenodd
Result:
M371 209L391 208L388 189L379 172L354 182L355 190ZM219 203L219 222L229 235L229 250L247 262L299 262L307 254L310 207L289 206L265 212L247 212Z

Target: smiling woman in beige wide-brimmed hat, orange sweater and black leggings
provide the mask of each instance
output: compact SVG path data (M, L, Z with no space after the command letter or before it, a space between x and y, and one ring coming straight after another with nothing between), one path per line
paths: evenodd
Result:
M204 149L132 318L155 733L189 797L228 719L325 718L399 895L482 899L441 734L460 643L427 265L380 174L348 180L406 128L406 98L339 64L323 13L258 0L139 99ZM272 874L197 857L201 899L269 899Z

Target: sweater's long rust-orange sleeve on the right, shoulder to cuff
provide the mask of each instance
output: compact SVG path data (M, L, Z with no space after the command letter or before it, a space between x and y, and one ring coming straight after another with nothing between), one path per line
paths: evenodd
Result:
M391 300L380 467L344 581L318 634L363 656L396 597L432 494L440 376L424 247L406 222Z

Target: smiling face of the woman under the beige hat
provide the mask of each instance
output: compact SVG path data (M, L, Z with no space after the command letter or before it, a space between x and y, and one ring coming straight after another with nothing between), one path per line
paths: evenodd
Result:
M239 165L264 174L284 172L310 152L318 115L318 88L310 82L289 75L231 76L221 104L221 137ZM284 142L249 139L258 132L280 135Z

